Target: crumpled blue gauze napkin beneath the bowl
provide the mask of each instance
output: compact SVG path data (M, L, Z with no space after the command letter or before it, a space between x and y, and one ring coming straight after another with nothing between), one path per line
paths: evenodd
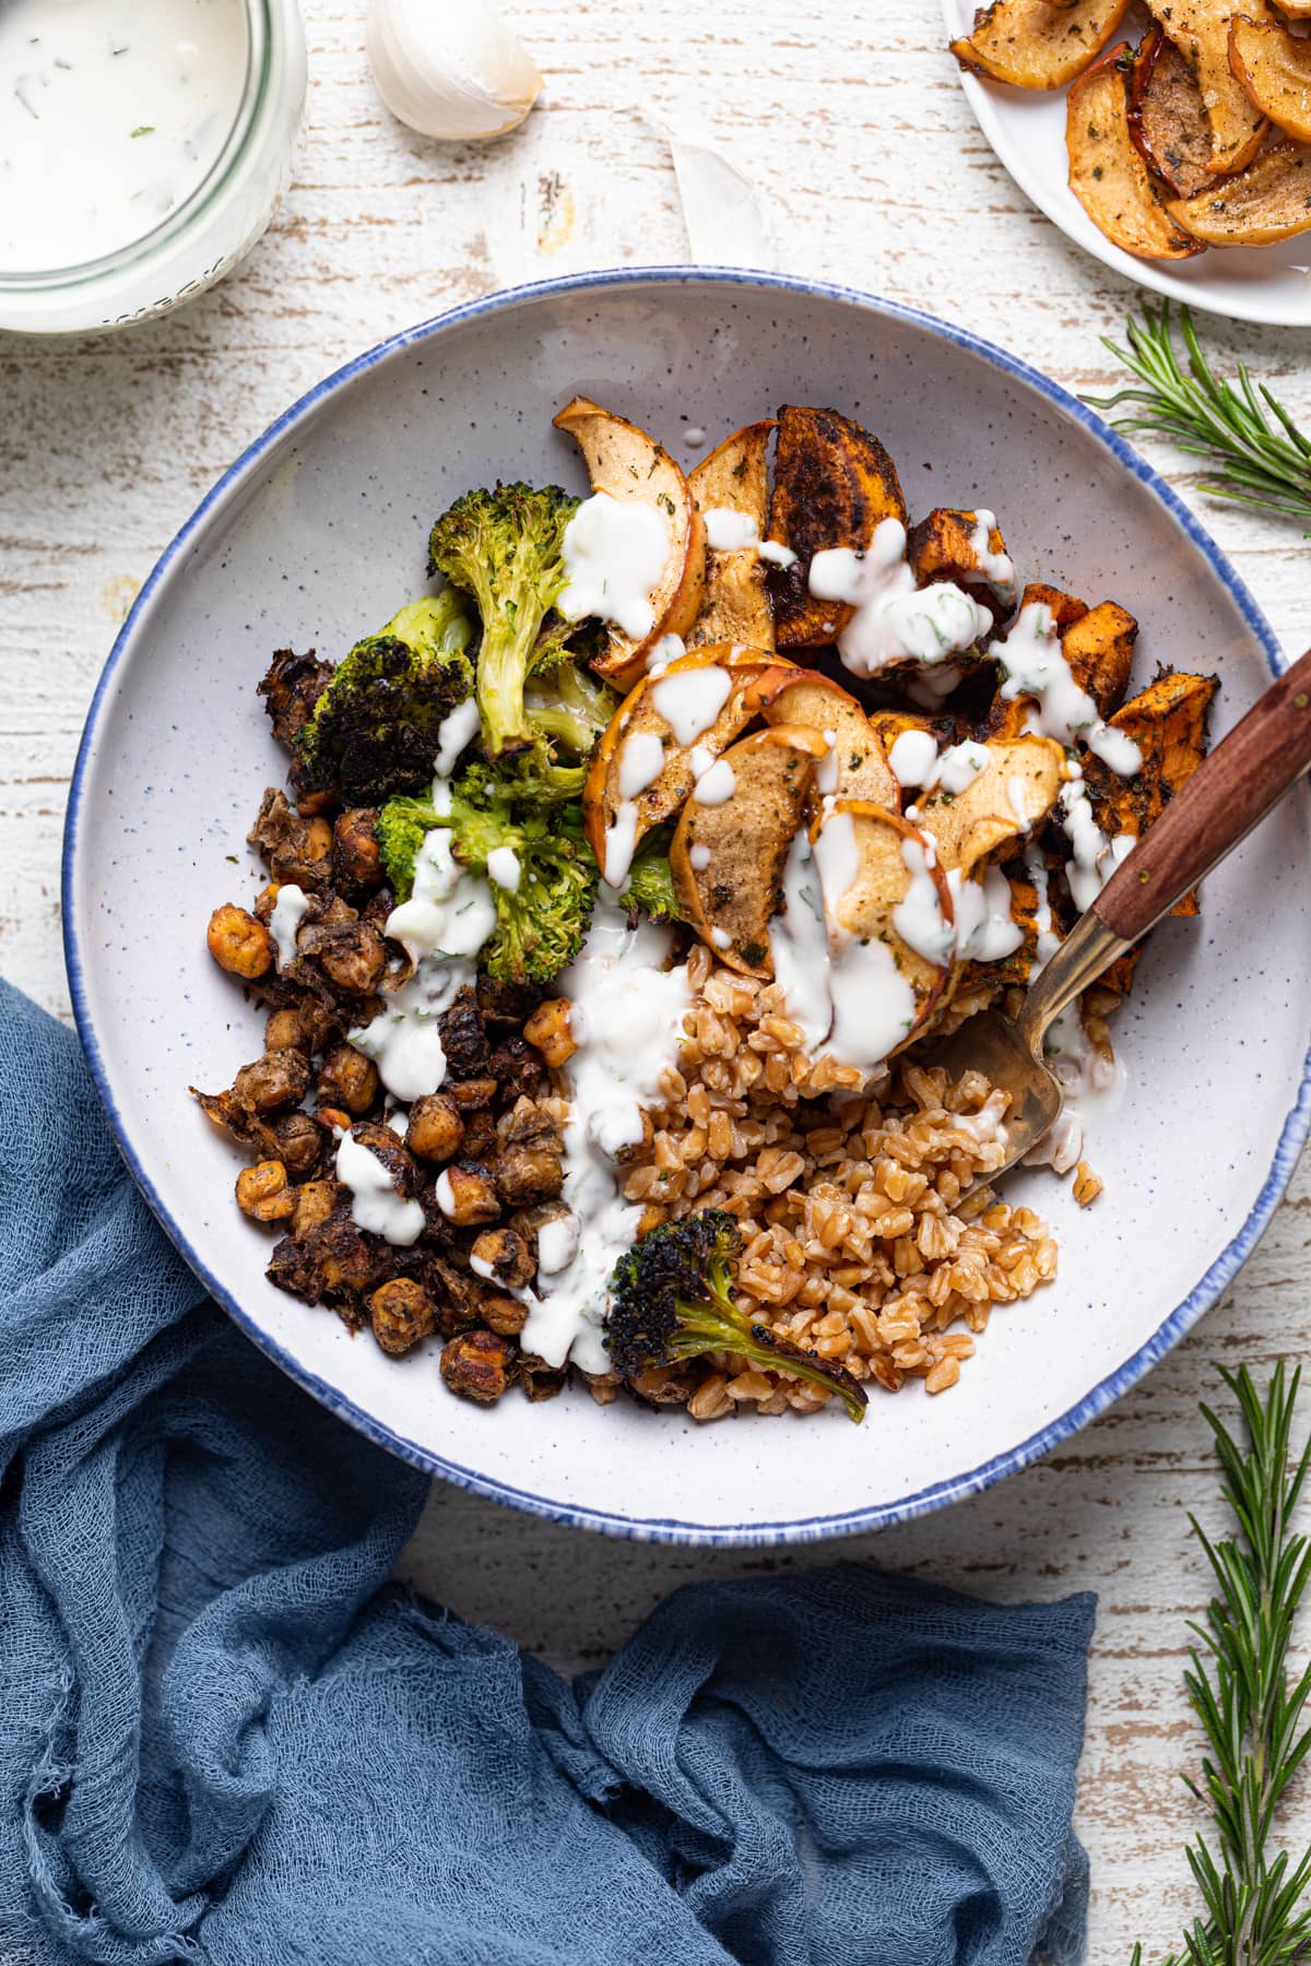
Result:
M702 1583L570 1685L387 1583L427 1482L200 1296L4 985L0 1087L4 1966L1079 1956L1089 1596Z

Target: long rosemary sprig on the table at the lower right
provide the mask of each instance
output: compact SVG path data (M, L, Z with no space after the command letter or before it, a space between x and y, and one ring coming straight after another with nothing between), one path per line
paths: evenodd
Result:
M1189 1866L1203 1915L1162 1966L1291 1966L1311 1958L1311 1850L1295 1864L1272 1850L1278 1805L1311 1748L1305 1724L1311 1667L1289 1685L1293 1618L1311 1575L1311 1545L1289 1524L1311 1465L1311 1441L1289 1467L1289 1433L1301 1368L1274 1368L1262 1396L1246 1366L1221 1374L1238 1400L1242 1439L1203 1406L1225 1474L1236 1533L1211 1541L1189 1516L1207 1551L1217 1594L1205 1624L1189 1630L1183 1675L1207 1734L1201 1775L1185 1775L1207 1803L1215 1840L1197 1836ZM1144 1966L1142 1946L1132 1966Z

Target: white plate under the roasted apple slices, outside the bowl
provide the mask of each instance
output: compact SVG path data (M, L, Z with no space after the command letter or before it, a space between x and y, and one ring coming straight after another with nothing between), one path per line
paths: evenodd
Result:
M945 41L969 33L975 0L941 0ZM1132 8L1114 39L1138 41L1148 16ZM943 41L943 47L945 47ZM947 57L949 61L953 57ZM1097 230L1067 181L1065 90L1006 88L959 69L969 106L985 138L1026 193L1065 238L1140 287L1187 301L1211 315L1264 320L1276 328L1311 322L1311 232L1280 246L1236 246L1193 260L1134 260Z

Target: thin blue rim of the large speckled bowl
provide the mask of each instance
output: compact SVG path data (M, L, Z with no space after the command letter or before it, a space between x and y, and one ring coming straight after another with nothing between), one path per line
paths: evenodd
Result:
M1297 1166L1297 1156L1311 1132L1311 1034L1309 1050L1303 1062L1301 1083L1297 1097L1283 1121L1280 1132L1280 1142L1276 1146L1274 1162L1270 1174L1256 1197L1246 1221L1232 1237L1232 1241L1221 1250L1221 1254L1211 1262L1205 1274L1197 1280L1187 1298L1175 1305L1173 1311L1158 1325L1154 1335L1132 1353L1114 1372L1109 1372L1091 1392L1087 1392L1075 1406L1071 1406L1050 1425L1032 1433L1026 1441L1010 1447L1006 1453L995 1455L981 1467L971 1469L965 1474L957 1474L949 1480L932 1482L928 1488L920 1488L914 1494L900 1496L894 1502L875 1502L869 1508L847 1510L835 1516L806 1516L802 1520L786 1522L741 1522L741 1524L698 1524L680 1522L668 1516L619 1516L599 1508L586 1508L580 1504L564 1504L548 1500L544 1496L533 1494L527 1488L515 1488L511 1482L495 1480L489 1474L482 1474L476 1469L466 1469L456 1461L446 1461L442 1455L428 1453L428 1449L419 1447L415 1441L393 1433L391 1427L366 1414L352 1400L348 1400L336 1386L320 1380L311 1372L299 1359L277 1345L246 1311L232 1294L220 1284L220 1280L206 1268L200 1256L191 1248L187 1233L181 1223L173 1221L169 1209L165 1207L161 1195L147 1178L128 1130L122 1123L122 1115L114 1103L114 1093L110 1087L110 1075L96 1040L94 1024L90 1020L90 1011L86 1003L86 991L83 983L83 957L77 940L77 922L73 914L73 863L77 857L79 839L79 820L81 820L81 800L85 788L86 769L94 751L96 725L100 720L100 706L114 682L120 663L126 659L132 647L136 623L143 609L147 607L155 588L169 572L173 562L189 549L191 541L202 527L204 519L216 503L220 503L226 493L244 478L248 478L259 460L291 431L295 425L305 421L311 411L314 411L328 397L336 395L356 376L364 376L368 370L375 368L379 362L405 348L415 346L425 340L440 340L446 328L458 326L466 320L478 320L485 315L505 313L515 307L523 307L533 301L546 301L560 295L576 293L605 293L613 289L633 289L643 285L727 285L743 289L765 289L780 293L800 293L824 301L841 301L849 307L857 307L871 315L881 315L884 318L902 320L910 326L922 328L940 340L953 342L957 348L965 348L969 354L987 362L991 368L1000 370L1000 374L1024 383L1038 395L1046 397L1055 409L1075 423L1091 431L1093 436L1116 458L1116 462L1128 470L1140 484L1148 486L1150 492L1162 501L1162 505L1173 515L1187 539L1197 547L1203 558L1211 564L1213 572L1221 578L1228 590L1232 602L1236 604L1242 619L1250 627L1252 635L1260 643L1266 661L1270 665L1272 676L1278 676L1287 665L1280 653L1280 645L1270 629L1270 623L1262 615L1260 607L1252 600L1246 584L1238 578L1234 568L1228 564L1226 556L1215 545L1205 527L1193 517L1189 507L1177 497L1175 492L1152 470L1152 466L1138 456L1138 452L1111 429L1097 411L1089 409L1077 397L1061 389L1059 383L1042 376L1038 370L1020 362L1018 356L1008 354L1004 348L997 348L993 342L983 340L979 334L971 334L967 328L957 328L951 322L938 320L934 315L926 315L914 307L902 307L896 301L883 301L877 295L861 293L855 287L837 287L826 281L814 279L792 279L786 273L757 273L745 267L688 267L688 265L656 265L656 267L623 267L599 273L576 273L564 279L544 279L531 281L523 287L507 287L501 293L491 293L480 301L468 301L462 307L454 307L444 315L436 315L432 320L419 322L413 328L403 328L399 334L389 336L375 348L366 350L352 362L346 362L334 374L326 376L320 383L309 389L299 401L295 401L281 417L275 419L263 431L261 436L250 444L242 456L232 464L218 484L204 495L197 505L193 515L187 519L183 529L165 547L157 564L153 566L145 586L136 598L132 613L124 621L118 639L110 651L104 665L96 692L90 700L90 710L86 712L86 723L83 729L83 741L77 753L77 765L73 769L73 784L69 788L69 812L65 820L63 836L63 875L61 875L61 900L63 900L63 944L65 944L65 963L69 971L69 991L73 997L73 1012L77 1018L79 1036L83 1040L83 1050L86 1054L86 1064L90 1066L90 1075L94 1079L96 1091L104 1105L104 1111L114 1128L118 1148L132 1172L138 1187L142 1189L145 1201L153 1209L155 1217L177 1244L179 1252L197 1272L200 1282L206 1286L210 1296L222 1303L228 1315L240 1325L240 1329L273 1359L299 1386L311 1392L322 1406L326 1406L340 1419L346 1419L352 1427L364 1433L368 1439L385 1447L389 1453L397 1455L401 1461L409 1461L413 1467L423 1469L427 1474L436 1474L442 1480L454 1482L458 1488L468 1488L474 1494L487 1496L495 1502L507 1502L513 1508L527 1510L533 1516L544 1516L548 1522L570 1524L580 1530L599 1530L609 1535L621 1535L635 1541L653 1543L684 1543L694 1547L749 1547L749 1545L776 1545L776 1543L806 1543L822 1541L833 1535L853 1535L861 1530L888 1528L896 1522L908 1522L914 1516L926 1516L936 1508L943 1508L947 1502L959 1502L969 1494L979 1494L991 1488L995 1482L1002 1480L1006 1474L1018 1474L1020 1469L1030 1467L1048 1455L1059 1441L1069 1439L1091 1419L1103 1414L1114 1404L1122 1394L1134 1386L1144 1372L1148 1372L1164 1355L1189 1331L1197 1319L1211 1309L1221 1292L1234 1280L1242 1264L1252 1254L1266 1223L1270 1221L1280 1195L1287 1187L1287 1182Z

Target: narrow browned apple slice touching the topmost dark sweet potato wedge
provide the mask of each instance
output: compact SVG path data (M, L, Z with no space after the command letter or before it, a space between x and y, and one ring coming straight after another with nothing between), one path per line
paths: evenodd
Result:
M769 523L767 452L772 431L772 417L749 423L688 474L706 521L706 588L686 637L690 649L708 641L774 647L774 611L759 552Z

